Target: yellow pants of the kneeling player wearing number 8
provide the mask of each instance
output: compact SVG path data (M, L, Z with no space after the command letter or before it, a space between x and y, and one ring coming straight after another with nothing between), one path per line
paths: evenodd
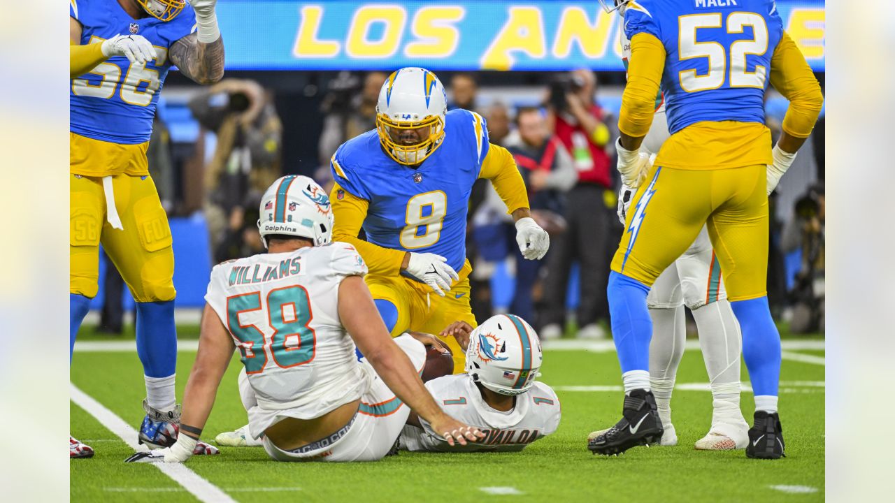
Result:
M398 276L367 275L367 286L373 299L382 299L395 304L397 323L392 329L392 337L400 336L408 330L439 335L439 332L455 321L465 321L477 327L473 309L469 303L469 273L473 267L466 260L458 271L460 280L451 286L445 296L430 291L429 286ZM465 371L466 356L454 337L439 337L454 354L454 373Z

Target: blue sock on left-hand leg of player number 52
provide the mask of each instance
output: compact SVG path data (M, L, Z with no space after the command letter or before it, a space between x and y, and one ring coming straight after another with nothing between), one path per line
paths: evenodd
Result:
M652 320L646 308L650 287L615 271L609 273L609 317L612 340L618 352L622 374L649 371Z

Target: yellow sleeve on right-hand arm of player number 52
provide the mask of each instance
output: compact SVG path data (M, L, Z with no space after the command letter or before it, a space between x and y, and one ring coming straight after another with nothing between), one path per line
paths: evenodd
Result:
M821 114L823 94L805 56L785 31L771 59L771 85L789 100L783 131L807 138Z

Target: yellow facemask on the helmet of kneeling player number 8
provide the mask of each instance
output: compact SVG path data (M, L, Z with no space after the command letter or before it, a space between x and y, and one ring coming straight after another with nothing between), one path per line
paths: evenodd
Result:
M422 121L396 121L385 114L376 115L376 130L379 142L388 157L404 166L415 166L429 158L441 146L445 136L444 118L428 116ZM408 137L417 139L406 141Z

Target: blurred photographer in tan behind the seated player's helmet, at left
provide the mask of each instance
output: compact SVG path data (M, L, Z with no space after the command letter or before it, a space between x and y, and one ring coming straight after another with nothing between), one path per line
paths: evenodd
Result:
M268 92L256 81L219 81L188 105L199 124L217 134L205 166L203 207L216 248L246 195L252 189L263 192L279 177L283 126Z

